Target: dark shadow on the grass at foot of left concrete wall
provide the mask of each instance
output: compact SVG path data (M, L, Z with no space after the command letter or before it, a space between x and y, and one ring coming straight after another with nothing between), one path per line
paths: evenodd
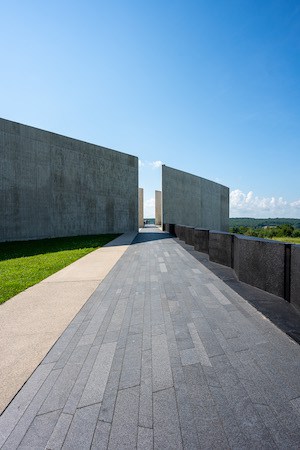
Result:
M100 234L90 236L71 236L62 238L38 239L0 243L0 261L26 256L77 250L80 248L102 247L119 234Z

